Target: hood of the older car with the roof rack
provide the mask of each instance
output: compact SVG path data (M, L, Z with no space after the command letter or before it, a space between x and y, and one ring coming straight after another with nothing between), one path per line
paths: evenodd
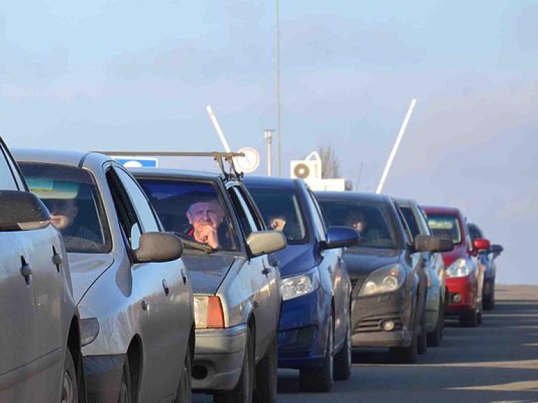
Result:
M230 267L235 262L233 255L183 255L188 277L191 278L193 294L214 295L219 289Z

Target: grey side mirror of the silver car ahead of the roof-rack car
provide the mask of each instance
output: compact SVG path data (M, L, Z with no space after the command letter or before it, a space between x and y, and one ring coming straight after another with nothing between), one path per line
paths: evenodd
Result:
M183 255L183 243L179 236L168 232L146 232L133 253L137 263L171 262Z

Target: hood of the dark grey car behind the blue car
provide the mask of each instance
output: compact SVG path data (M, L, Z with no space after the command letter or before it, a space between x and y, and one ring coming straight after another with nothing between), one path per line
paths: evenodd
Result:
M344 261L350 278L364 278L375 269L399 262L400 255L395 249L349 248Z

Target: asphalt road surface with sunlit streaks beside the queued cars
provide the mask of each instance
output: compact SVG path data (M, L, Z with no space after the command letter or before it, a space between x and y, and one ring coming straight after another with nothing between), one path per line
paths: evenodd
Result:
M278 402L538 403L538 286L497 285L481 325L446 326L417 365L391 364L386 349L354 351L351 378L331 393L301 393L298 372L280 370Z

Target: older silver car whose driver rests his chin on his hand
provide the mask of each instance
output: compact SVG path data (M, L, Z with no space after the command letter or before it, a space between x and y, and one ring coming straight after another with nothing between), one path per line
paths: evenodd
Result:
M184 237L193 281L193 388L215 402L275 402L280 271L268 253L286 246L267 231L239 177L134 170L165 229ZM212 227L210 234L207 227Z

